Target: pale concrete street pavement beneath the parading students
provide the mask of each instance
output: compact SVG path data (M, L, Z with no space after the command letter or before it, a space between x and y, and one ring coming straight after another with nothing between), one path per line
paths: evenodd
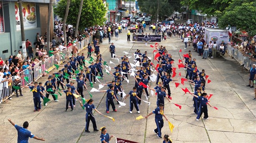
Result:
M145 33L148 32L145 31ZM152 32L152 31L151 31ZM132 36L131 36L132 39ZM153 48L148 43L145 46L144 43L128 42L126 40L126 32L123 31L119 34L119 39L113 38L111 42L115 44L116 55L123 56L123 51L128 53L134 53L136 49L140 49L141 53L148 51L148 56L153 58ZM196 58L196 64L198 69L206 70L206 75L209 75L211 83L206 84L206 92L213 94L211 97L211 105L217 107L218 110L208 106L209 119L199 119L196 121L196 115L193 113L193 101L190 94L184 95L182 88L187 87L192 91L193 87L185 82L185 85L179 85L175 88L175 84L171 83L171 103L165 102L165 114L171 123L175 126L173 133L169 130L168 122L164 120L164 126L162 128L162 136L168 134L171 136L173 143L255 143L256 141L256 100L253 100L254 91L253 88L246 87L248 85L248 72L246 69L242 69L234 59L229 56L219 58L208 58L207 60L201 59L196 52L193 51L192 44L186 50L184 49L184 43L177 37L162 41L160 45L166 46L169 53L172 54L175 63L173 67L177 68L176 77L178 73L185 76L185 70L183 68L178 69L178 59L182 59L180 56L186 54L188 50L192 51L193 58ZM110 53L108 51L108 39L104 39L100 44L100 52L103 55L103 59L109 63L111 60ZM178 50L182 49L182 53ZM87 53L87 51L83 51ZM129 54L128 56L132 56ZM118 63L117 60L111 60L114 63ZM130 59L133 63L133 58ZM156 61L155 61L156 63ZM109 64L113 67L113 64ZM57 71L57 70L54 70ZM114 72L114 70L111 70ZM156 74L156 72L155 72ZM128 94L134 86L133 77L128 76L130 82L123 82L125 93ZM40 78L39 82L45 82L47 77ZM104 79L100 80L102 83L110 82L113 76L105 73ZM179 83L181 80L179 79ZM94 84L95 88L98 88L97 84ZM150 82L151 87L155 87L155 82ZM76 86L75 86L76 87ZM90 91L91 87L88 86ZM107 86L101 90L106 90ZM10 104L0 104L0 142L1 143L15 143L17 142L17 131L8 122L8 118L11 118L13 122L22 126L24 121L29 122L28 129L35 134L35 136L43 137L46 139L44 143L99 143L100 131L94 132L92 123L90 122L90 133L85 133L85 110L83 110L79 103L77 103L74 111L65 112L65 95L59 97L59 102L53 102L53 98L50 96L51 101L46 107L42 107L41 111L33 112L33 96L30 90L23 90L24 97L16 98L13 96L13 100ZM84 90L85 98L89 99L89 94ZM113 122L97 112L94 113L96 124L98 129L105 126L107 132L115 137L136 141L138 143L162 143L163 139L159 139L153 132L156 128L154 115L148 117L148 119L136 120L136 117L142 115L146 116L153 109L156 108L156 96L150 97L148 106L145 102L139 106L140 114L136 113L133 109L133 114L129 113L129 102L125 100L126 106L118 108L116 104L117 112L112 111L110 107L110 113L105 112L105 99L106 95L100 92L92 92L95 107L103 114L111 116L115 119ZM146 100L145 96L142 97ZM124 100L124 99L123 99ZM122 100L122 101L123 101ZM176 107L173 103L182 106L181 109ZM41 143L41 141L35 139L29 139L31 143ZM113 138L110 143L115 143Z

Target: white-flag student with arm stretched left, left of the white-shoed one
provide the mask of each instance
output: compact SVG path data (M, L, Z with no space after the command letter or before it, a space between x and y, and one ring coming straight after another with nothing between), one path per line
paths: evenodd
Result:
M114 101L113 101L113 97L115 98L115 100L118 102L118 99L116 99L116 97L115 97L115 92L114 92L114 86L113 85L111 85L110 87L109 87L110 89L109 90L102 90L102 91L100 91L100 92L107 92L107 98L106 98L106 113L109 113L109 105L111 104L111 106L112 106L112 109L113 109L113 111L117 111L116 109L115 109L115 104L114 104Z

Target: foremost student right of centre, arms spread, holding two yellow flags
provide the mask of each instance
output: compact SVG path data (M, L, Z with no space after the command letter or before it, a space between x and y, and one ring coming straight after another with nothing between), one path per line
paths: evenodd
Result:
M160 103L159 107L157 107L155 110L153 110L147 116L145 116L145 118L147 119L148 116L151 116L152 114L155 114L155 121L156 121L156 126L157 126L157 128L154 130L154 132L157 134L158 138L162 138L161 129L163 128L163 117L166 119L166 121L169 121L166 118L166 115L163 113L163 104Z

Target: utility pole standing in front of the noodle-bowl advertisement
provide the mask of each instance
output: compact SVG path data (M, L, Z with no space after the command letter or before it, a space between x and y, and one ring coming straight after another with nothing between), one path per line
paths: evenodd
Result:
M26 44L25 44L25 31L24 31L24 23L23 23L23 10L22 10L22 2L18 0L19 3L19 12L20 12L20 33L21 33L21 42L22 42L22 56L23 58L27 57Z

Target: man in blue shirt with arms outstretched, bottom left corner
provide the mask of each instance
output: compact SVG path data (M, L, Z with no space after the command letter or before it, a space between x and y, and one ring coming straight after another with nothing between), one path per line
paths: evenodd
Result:
M28 137L35 138L37 140L45 141L44 138L38 138L37 136L33 135L30 131L28 131L28 122L25 121L23 123L23 127L16 125L13 123L11 119L8 119L8 121L16 128L18 131L18 143L28 143Z

